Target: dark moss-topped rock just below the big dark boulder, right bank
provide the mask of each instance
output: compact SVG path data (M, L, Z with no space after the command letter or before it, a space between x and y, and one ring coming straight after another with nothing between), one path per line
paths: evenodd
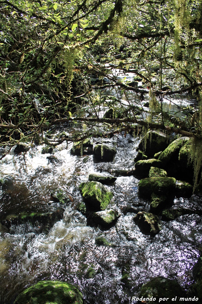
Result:
M146 177L151 167L162 168L162 166L162 162L154 158L137 161L137 163L135 163L135 174Z

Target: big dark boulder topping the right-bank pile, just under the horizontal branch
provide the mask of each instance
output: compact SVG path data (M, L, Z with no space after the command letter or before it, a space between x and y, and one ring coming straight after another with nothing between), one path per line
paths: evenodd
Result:
M138 148L149 156L154 156L154 154L161 150L164 150L168 146L167 137L163 132L147 132L146 147L144 142L144 139L142 139L139 143Z

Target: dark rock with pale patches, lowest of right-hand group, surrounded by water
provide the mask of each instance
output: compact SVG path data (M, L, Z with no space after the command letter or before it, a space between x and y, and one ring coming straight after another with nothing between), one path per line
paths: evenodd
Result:
M161 231L161 221L158 216L149 212L138 212L134 217L137 226L145 234L155 235Z

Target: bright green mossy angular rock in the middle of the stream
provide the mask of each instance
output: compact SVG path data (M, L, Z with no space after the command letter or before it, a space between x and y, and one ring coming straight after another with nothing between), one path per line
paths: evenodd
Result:
M79 190L91 210L105 210L113 197L113 193L98 181L81 183Z

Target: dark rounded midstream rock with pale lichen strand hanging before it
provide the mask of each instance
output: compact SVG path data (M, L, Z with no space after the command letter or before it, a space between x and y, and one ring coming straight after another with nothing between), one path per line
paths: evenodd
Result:
M94 147L94 155L101 161L113 161L117 150L105 144L98 144Z

